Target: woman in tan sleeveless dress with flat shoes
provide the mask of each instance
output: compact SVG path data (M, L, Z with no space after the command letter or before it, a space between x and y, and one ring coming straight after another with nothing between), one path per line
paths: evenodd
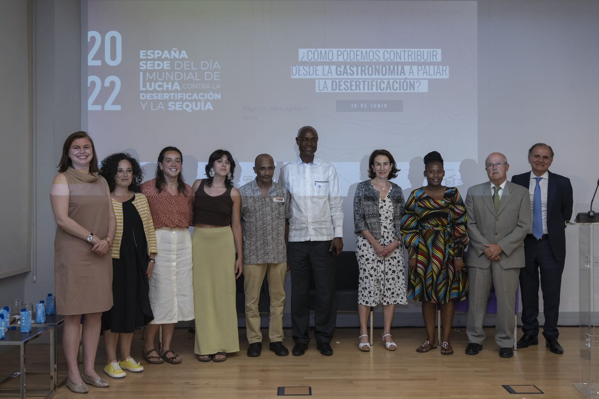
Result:
M98 175L98 157L86 132L75 132L63 145L59 173L50 189L56 224L56 312L65 318L63 347L67 386L87 392L87 384L108 386L93 368L102 312L112 307L110 246L116 218L108 185ZM84 315L83 373L77 364L79 324Z

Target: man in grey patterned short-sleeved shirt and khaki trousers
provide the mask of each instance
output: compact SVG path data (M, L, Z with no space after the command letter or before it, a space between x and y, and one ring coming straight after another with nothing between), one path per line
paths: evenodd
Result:
M254 163L256 179L244 184L241 193L243 226L243 288L246 293L247 355L260 356L262 334L258 301L264 276L268 273L270 294L269 349L277 356L289 355L283 345L283 306L287 272L286 219L290 217L290 194L284 185L273 182L274 160L260 154Z

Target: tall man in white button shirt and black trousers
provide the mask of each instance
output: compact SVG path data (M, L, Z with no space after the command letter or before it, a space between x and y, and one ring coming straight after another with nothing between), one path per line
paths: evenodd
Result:
M291 269L291 323L301 356L308 348L310 273L316 286L314 339L320 353L333 354L331 340L337 318L334 256L343 251L343 196L337 171L314 156L318 133L301 127L295 142L299 157L283 166L279 182L291 193L288 264Z

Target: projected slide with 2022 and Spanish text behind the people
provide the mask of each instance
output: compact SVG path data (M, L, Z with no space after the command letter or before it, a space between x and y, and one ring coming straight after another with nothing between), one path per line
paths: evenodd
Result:
M242 185L260 153L295 159L304 125L344 193L376 148L404 189L422 185L429 151L446 185L476 164L476 1L89 0L82 19L83 124L99 157L153 163L146 178L167 145L190 183L225 148Z

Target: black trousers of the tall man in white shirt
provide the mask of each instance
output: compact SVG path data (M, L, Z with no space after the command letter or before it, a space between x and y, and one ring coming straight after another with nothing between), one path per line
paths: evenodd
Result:
M330 343L337 321L337 282L331 241L289 242L287 257L291 269L291 325L295 343L310 342L309 288L310 273L316 287L314 338L316 343Z

